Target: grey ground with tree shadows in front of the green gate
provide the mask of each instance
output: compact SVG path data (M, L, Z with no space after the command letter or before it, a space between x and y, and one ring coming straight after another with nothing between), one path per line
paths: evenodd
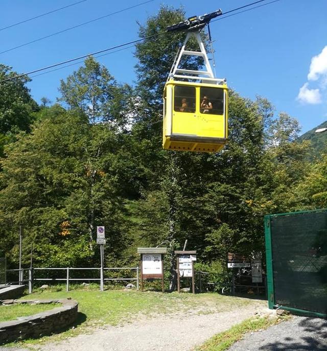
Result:
M293 317L262 332L247 335L228 351L326 351L327 320Z

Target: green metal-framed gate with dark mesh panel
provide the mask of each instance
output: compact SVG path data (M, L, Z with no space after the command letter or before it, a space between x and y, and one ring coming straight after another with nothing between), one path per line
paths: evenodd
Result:
M327 317L327 210L265 216L269 308Z

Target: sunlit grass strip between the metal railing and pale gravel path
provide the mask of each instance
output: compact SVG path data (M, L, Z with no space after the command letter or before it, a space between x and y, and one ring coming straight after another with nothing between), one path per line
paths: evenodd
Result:
M254 303L248 298L219 295L217 293L178 294L135 290L106 290L78 288L69 292L44 290L22 297L22 299L57 299L71 297L79 303L79 316L76 323L60 334L42 337L42 339L26 340L15 345L58 341L81 333L91 332L92 329L105 324L122 325L135 321L142 316L157 316L157 314L189 312L209 314L238 310ZM258 301L256 301L258 303ZM262 302L264 305L265 302Z

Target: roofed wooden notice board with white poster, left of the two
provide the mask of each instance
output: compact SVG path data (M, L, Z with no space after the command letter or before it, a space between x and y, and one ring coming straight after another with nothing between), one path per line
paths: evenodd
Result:
M141 254L141 290L144 291L144 279L161 279L162 292L165 292L164 255L167 247L137 247Z

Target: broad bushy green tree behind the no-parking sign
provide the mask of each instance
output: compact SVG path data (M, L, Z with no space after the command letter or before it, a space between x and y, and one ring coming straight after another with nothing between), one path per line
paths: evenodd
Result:
M36 264L91 265L98 259L95 227L106 225L109 256L118 259L128 244L118 137L82 113L59 106L41 112L33 133L21 133L2 161L3 249L15 252L13 235L24 224L25 243L35 241Z

